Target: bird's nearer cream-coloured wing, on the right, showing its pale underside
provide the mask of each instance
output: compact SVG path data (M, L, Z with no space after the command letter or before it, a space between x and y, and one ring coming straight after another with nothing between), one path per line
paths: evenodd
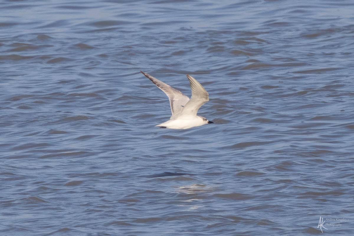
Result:
M197 115L199 108L206 102L209 101L209 93L199 84L196 79L192 76L187 75L190 83L190 88L192 89L192 98L189 102L185 104L181 115Z

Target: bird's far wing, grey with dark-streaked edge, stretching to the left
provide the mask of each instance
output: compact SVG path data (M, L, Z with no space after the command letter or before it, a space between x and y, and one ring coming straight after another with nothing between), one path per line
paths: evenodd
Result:
M172 88L170 85L165 84L164 82L156 79L155 77L146 74L143 71L140 72L145 75L149 80L151 80L151 82L153 82L158 88L160 88L160 90L166 93L167 97L169 97L172 112L172 116L170 119L173 120L178 117L181 114L185 104L188 103L189 98L180 91L176 90L175 88Z

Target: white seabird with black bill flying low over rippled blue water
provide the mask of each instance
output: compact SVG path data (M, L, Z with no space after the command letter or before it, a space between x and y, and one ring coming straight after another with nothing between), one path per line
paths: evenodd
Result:
M199 108L209 101L209 93L192 76L187 75L192 89L192 97L189 99L180 91L172 88L155 77L140 71L148 77L160 90L169 97L172 116L170 120L156 125L160 128L189 129L196 126L214 123L205 117L197 116ZM156 127L155 126L155 127Z

